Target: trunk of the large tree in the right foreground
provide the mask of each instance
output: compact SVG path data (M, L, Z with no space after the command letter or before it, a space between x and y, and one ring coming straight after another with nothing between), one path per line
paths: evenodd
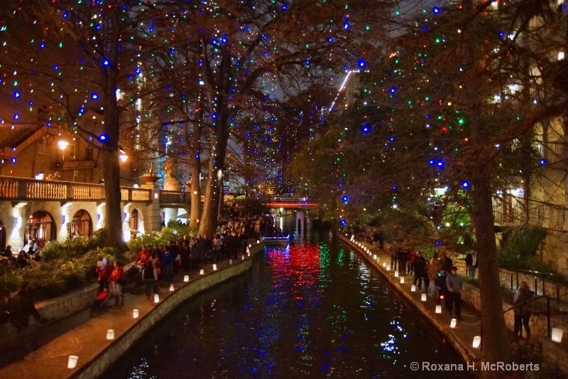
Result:
M464 1L464 10L475 13L472 0ZM468 41L470 31L464 33L464 41ZM471 41L478 41L471 36ZM501 299L501 282L499 281L499 266L497 262L497 245L495 241L495 224L493 204L491 202L491 171L493 151L487 151L491 146L487 141L486 132L481 122L485 95L480 92L483 80L484 66L480 64L482 51L476 43L466 43L466 108L471 127L472 153L466 166L471 167L473 212L478 252L479 293L481 297L481 343L483 345L484 361L490 363L510 362L512 351L507 334L505 317L503 316L503 301ZM484 157L481 159L481 157ZM498 371L482 372L484 378L503 378Z

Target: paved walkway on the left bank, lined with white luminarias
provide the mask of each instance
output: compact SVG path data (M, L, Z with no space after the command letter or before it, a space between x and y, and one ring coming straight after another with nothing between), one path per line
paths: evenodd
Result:
M253 247L256 247L255 245ZM253 249L251 249L252 255ZM250 259L246 255L244 258ZM234 261L233 265L239 262L240 259ZM216 265L217 272L222 274L223 269L229 267L229 260L219 260ZM199 270L178 273L172 282L174 289L217 273L212 268L212 265L204 267L204 275L200 275ZM183 281L184 275L189 275L189 282ZM170 292L169 289L169 284L160 287L160 303L175 293ZM114 299L109 300L109 305L112 304ZM18 346L10 348L10 352L6 353L8 358L2 359L4 367L0 368L0 378L69 378L111 345L113 341L107 340L107 330L113 329L114 338L119 338L158 304L148 301L142 288L141 294L125 294L122 308L109 308L97 314L91 314L91 310L82 311L80 314L49 324L43 329L45 333L40 332L41 335L20 341ZM138 319L133 318L133 309L138 309ZM67 368L69 356L79 357L77 367L74 369Z

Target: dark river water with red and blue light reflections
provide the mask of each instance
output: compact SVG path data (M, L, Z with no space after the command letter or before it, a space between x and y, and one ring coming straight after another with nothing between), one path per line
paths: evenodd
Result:
M305 235L302 235L306 238ZM267 249L173 312L104 378L471 378L435 329L329 233Z

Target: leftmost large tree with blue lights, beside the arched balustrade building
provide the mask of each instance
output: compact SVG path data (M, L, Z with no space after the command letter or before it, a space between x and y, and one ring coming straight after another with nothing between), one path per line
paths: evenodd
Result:
M100 149L105 188L105 245L122 240L119 167L121 107L116 90L133 90L138 40L146 36L147 1L2 1L2 68L19 90L22 112L50 107L62 127ZM149 8L148 8L149 7ZM3 83L4 84L4 83ZM4 85L6 90L6 85ZM25 100L27 100L25 102ZM97 114L99 122L84 117ZM122 124L124 125L124 123Z

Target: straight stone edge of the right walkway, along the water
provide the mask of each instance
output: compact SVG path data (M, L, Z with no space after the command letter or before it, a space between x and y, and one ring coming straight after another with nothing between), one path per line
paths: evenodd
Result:
M364 257L364 259L373 266L373 268L376 270L376 272L378 272L379 274L381 274L381 276L387 280L387 282L389 284L391 284L391 286L393 286L397 292L402 295L406 300L408 300L408 302L410 302L410 304L412 304L415 309L417 309L417 311L420 312L420 314L422 314L422 316L427 319L427 321L430 322L430 324L432 324L433 326L435 326L435 328L442 333L442 336L444 336L444 338L446 338L447 341L449 341L449 343L452 345L452 347L459 353L459 356L461 356L461 358L464 360L464 362L466 363L477 363L478 361L480 361L480 359L476 356L474 356L473 354L471 354L471 352L468 350L468 348L466 346L464 346L463 343L461 343L461 341L459 341L459 339L456 338L456 336L454 336L452 334L452 332L450 331L449 327L442 324L438 319L436 319L436 317L432 314L432 312L428 311L424 305L422 305L419 301L416 301L416 299L414 299L410 293L408 293L408 291L406 291L405 289L403 289L400 286L400 282L398 282L398 278L393 277L392 275L388 274L388 272L386 271L386 269L383 269L383 267L381 267L380 265L378 265L377 262L373 261L372 259L369 258L368 254L364 253L364 250L357 246L356 244L354 244L354 242L351 242L349 240L349 238L345 237L344 235L340 234L340 233L336 233L335 234L336 237L339 238L339 240L341 240L345 245L348 245L351 249L353 249L354 251L358 252L359 255L361 255L362 257ZM470 370L470 373L473 373L473 375L476 375L476 373L479 373L479 371L473 371Z

